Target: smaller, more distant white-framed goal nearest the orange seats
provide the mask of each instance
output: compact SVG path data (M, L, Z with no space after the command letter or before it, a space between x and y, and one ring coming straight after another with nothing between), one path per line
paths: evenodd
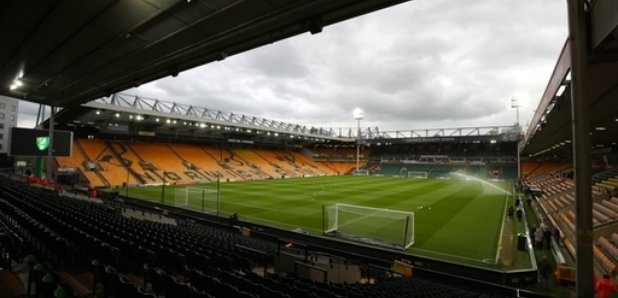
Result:
M218 193L214 189L180 187L174 190L174 206L205 213L219 210Z

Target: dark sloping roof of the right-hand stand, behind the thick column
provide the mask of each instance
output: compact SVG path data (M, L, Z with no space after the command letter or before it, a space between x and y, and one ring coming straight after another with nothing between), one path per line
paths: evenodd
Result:
M524 156L570 160L572 158L571 45L567 40L556 62L526 133ZM592 51L590 137L591 150L616 147L618 136L618 40L610 35Z

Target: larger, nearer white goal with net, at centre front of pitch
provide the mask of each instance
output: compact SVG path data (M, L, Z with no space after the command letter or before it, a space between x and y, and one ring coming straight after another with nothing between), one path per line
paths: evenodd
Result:
M322 206L325 235L406 250L414 244L414 212L336 203Z

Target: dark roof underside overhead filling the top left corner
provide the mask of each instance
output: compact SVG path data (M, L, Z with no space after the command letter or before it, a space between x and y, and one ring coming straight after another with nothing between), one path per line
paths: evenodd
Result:
M0 1L0 94L77 106L401 2Z

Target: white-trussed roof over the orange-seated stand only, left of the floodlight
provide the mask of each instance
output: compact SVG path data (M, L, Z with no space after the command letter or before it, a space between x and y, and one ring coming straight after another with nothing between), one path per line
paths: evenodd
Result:
M331 128L306 127L127 94L114 94L84 103L79 108L62 110L55 120L67 126L93 127L112 135L168 135L237 142L281 139L289 139L291 143L354 141L353 135Z

